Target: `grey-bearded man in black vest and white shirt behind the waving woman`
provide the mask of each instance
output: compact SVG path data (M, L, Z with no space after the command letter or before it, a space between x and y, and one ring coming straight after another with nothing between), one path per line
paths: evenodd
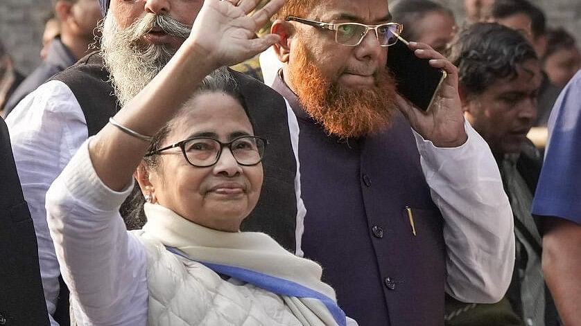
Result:
M58 261L46 225L46 190L87 136L96 134L171 59L189 35L203 2L99 1L103 15L107 13L100 52L87 55L43 84L6 120L34 221L52 325L58 325L53 316L59 316L61 325L69 325L69 298L64 283L59 282ZM275 12L273 6L278 5L267 5L266 12ZM295 230L302 230L297 225L304 216L295 192L297 163L291 143L297 141L295 116L288 114L291 111L284 98L272 89L241 74L232 75L245 96L254 132L276 144L269 147L263 160L261 200L243 228L268 233L295 251L300 246ZM60 303L64 305L57 307Z

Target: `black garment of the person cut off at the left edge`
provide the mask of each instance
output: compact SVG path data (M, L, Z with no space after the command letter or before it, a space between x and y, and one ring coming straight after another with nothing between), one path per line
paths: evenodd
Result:
M0 118L0 325L49 325L33 219Z

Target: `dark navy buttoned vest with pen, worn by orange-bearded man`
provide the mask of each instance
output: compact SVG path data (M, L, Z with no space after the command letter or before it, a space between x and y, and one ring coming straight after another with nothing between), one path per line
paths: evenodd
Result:
M443 221L410 125L398 114L381 134L342 140L324 132L280 78L273 87L300 127L302 248L322 264L340 307L362 326L443 325Z

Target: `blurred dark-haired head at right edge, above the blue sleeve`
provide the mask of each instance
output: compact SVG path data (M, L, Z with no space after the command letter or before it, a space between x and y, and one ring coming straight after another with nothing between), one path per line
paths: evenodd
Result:
M543 57L543 68L550 82L557 87L565 85L581 68L581 54L573 35L564 28L550 28Z

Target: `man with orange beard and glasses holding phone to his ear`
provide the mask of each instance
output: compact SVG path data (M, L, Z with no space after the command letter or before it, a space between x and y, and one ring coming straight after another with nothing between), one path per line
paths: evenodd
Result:
M288 0L273 84L299 123L302 249L359 325L444 325L444 290L496 302L514 262L512 213L489 147L462 116L456 67L427 113L385 68L401 26L387 1Z

